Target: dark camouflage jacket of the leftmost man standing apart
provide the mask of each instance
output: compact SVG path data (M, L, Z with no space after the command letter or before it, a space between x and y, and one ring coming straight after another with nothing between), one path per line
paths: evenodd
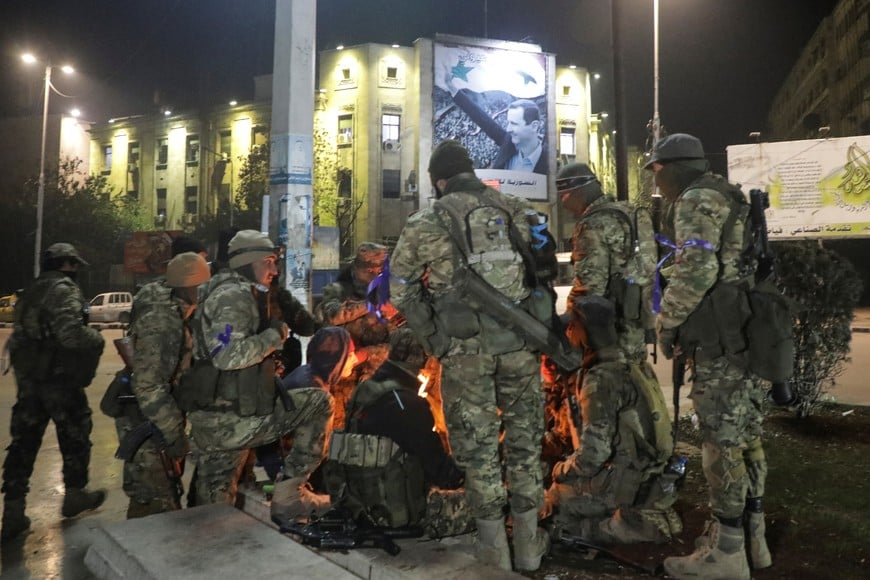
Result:
M63 272L49 270L27 289L15 309L17 338L49 340L69 350L102 351L100 331L84 324L87 302Z

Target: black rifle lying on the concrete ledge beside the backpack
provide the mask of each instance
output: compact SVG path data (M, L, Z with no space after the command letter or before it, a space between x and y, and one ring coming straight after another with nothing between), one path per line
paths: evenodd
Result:
M419 538L423 535L420 526L381 528L359 525L346 513L332 510L322 517L312 517L308 523L297 523L273 517L282 534L293 534L306 546L324 550L351 550L355 548L380 548L391 556L402 551L395 540Z

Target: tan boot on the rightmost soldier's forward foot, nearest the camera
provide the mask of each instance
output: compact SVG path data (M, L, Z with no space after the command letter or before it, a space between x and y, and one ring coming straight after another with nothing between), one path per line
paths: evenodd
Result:
M707 541L700 542L688 556L665 559L664 565L665 572L678 579L749 580L743 528L726 526L714 519Z

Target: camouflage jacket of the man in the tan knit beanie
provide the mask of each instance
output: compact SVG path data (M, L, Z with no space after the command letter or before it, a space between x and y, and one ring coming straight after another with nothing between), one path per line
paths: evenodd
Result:
M192 308L172 296L165 280L149 282L133 299L130 336L135 345L131 387L142 413L170 444L184 437L184 415L172 391L190 366Z

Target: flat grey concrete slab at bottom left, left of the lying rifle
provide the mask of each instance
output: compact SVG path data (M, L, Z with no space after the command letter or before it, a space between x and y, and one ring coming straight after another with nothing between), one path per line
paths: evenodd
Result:
M85 565L102 579L357 578L227 505L100 527Z

